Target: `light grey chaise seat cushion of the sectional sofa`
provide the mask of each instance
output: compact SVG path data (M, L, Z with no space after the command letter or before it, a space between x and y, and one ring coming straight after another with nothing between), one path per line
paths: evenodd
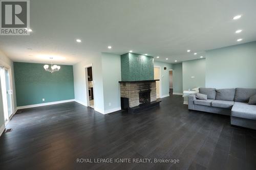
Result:
M256 120L256 105L234 102L231 109L231 116Z

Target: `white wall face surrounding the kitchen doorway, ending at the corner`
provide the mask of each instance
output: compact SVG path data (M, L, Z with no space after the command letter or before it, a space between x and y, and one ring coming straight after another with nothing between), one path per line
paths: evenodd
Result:
M87 106L86 79L84 67L93 64L93 82L94 82L94 109L98 112L104 111L103 102L103 82L102 82L102 66L101 66L101 53L90 54L84 56L84 59L79 63L73 65L74 74L74 91L75 100Z

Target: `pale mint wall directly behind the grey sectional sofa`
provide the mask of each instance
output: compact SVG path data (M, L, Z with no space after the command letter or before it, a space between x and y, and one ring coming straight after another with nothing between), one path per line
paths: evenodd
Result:
M206 51L206 87L256 88L256 41Z

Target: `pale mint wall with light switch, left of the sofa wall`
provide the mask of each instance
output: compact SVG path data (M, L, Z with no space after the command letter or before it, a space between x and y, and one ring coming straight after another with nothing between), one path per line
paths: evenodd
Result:
M205 59L183 61L182 82L183 90L205 87Z

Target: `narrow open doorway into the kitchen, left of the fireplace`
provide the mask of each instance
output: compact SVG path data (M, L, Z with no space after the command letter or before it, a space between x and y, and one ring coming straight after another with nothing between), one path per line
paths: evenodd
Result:
M86 89L87 93L87 105L91 108L94 108L94 83L93 83L93 66L85 67L85 75L86 75Z

